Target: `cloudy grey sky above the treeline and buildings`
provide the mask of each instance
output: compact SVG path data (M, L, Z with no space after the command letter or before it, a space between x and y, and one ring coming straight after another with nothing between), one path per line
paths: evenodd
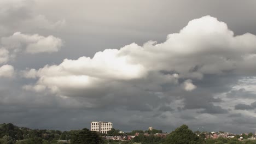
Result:
M0 123L256 131L256 1L0 1Z

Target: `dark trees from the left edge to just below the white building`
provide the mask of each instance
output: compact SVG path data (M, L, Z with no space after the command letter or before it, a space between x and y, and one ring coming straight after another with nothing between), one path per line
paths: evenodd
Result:
M0 124L0 144L77 144L82 141L104 143L99 134L89 129L62 132L60 130L20 128L11 123Z

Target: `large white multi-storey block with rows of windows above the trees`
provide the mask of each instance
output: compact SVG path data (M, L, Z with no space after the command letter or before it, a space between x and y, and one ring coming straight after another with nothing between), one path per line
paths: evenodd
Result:
M97 131L103 134L107 134L107 131L113 127L112 122L91 122L91 131Z

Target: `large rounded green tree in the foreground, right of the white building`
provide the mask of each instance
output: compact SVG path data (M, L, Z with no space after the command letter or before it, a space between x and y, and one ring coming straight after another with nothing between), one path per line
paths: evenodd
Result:
M177 128L176 130L172 131L166 137L165 144L202 144L205 143L201 137L197 136L196 134L191 131L187 125L182 125L181 127Z

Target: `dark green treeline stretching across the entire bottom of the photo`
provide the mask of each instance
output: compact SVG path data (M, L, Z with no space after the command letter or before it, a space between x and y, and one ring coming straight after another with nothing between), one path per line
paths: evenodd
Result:
M46 143L71 143L71 144L256 144L256 141L238 141L237 138L226 139L205 139L203 135L193 133L187 125L182 125L172 131L166 137L155 136L161 133L161 130L133 130L131 133L119 133L120 130L112 129L108 134L100 134L89 129L82 130L38 130L29 128L19 128L15 125L0 124L0 144L46 144ZM144 135L144 133L151 135ZM133 139L127 141L106 140L104 136L119 135L127 137L127 135L135 135Z

